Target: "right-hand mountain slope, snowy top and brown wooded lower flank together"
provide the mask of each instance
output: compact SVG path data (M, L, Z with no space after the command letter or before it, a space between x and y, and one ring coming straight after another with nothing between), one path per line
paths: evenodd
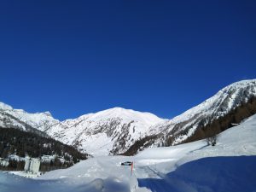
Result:
M256 79L243 80L219 90L195 108L151 127L148 138L131 146L128 154L148 146L170 146L218 133L256 113Z

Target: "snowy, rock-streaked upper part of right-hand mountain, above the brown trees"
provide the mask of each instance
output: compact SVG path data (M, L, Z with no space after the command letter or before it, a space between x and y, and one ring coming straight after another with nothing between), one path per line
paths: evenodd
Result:
M251 108L247 108L247 116L256 113L255 96L256 79L230 84L194 108L151 127L150 134L160 134L154 143L165 143L168 137L172 137L172 144L181 143L192 136L200 126L206 126L215 119L223 118L242 104L252 102Z

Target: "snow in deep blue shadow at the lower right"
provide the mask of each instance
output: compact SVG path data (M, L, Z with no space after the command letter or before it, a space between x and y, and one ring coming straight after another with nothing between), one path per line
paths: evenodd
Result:
M184 164L161 179L138 179L140 187L160 192L253 192L255 181L256 156L204 158Z

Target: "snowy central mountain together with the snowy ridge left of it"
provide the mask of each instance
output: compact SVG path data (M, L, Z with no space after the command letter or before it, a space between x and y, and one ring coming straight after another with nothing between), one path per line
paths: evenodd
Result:
M160 119L152 113L125 108L110 108L89 113L77 119L59 121L49 112L26 113L0 102L0 127L14 127L23 131L53 137L93 155L124 153L133 143L148 134Z

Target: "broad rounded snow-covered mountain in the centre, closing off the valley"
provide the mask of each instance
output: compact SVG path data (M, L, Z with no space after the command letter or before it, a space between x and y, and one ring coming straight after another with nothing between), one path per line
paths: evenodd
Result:
M67 119L41 131L90 154L120 154L147 136L152 125L163 121L152 113L110 108Z

